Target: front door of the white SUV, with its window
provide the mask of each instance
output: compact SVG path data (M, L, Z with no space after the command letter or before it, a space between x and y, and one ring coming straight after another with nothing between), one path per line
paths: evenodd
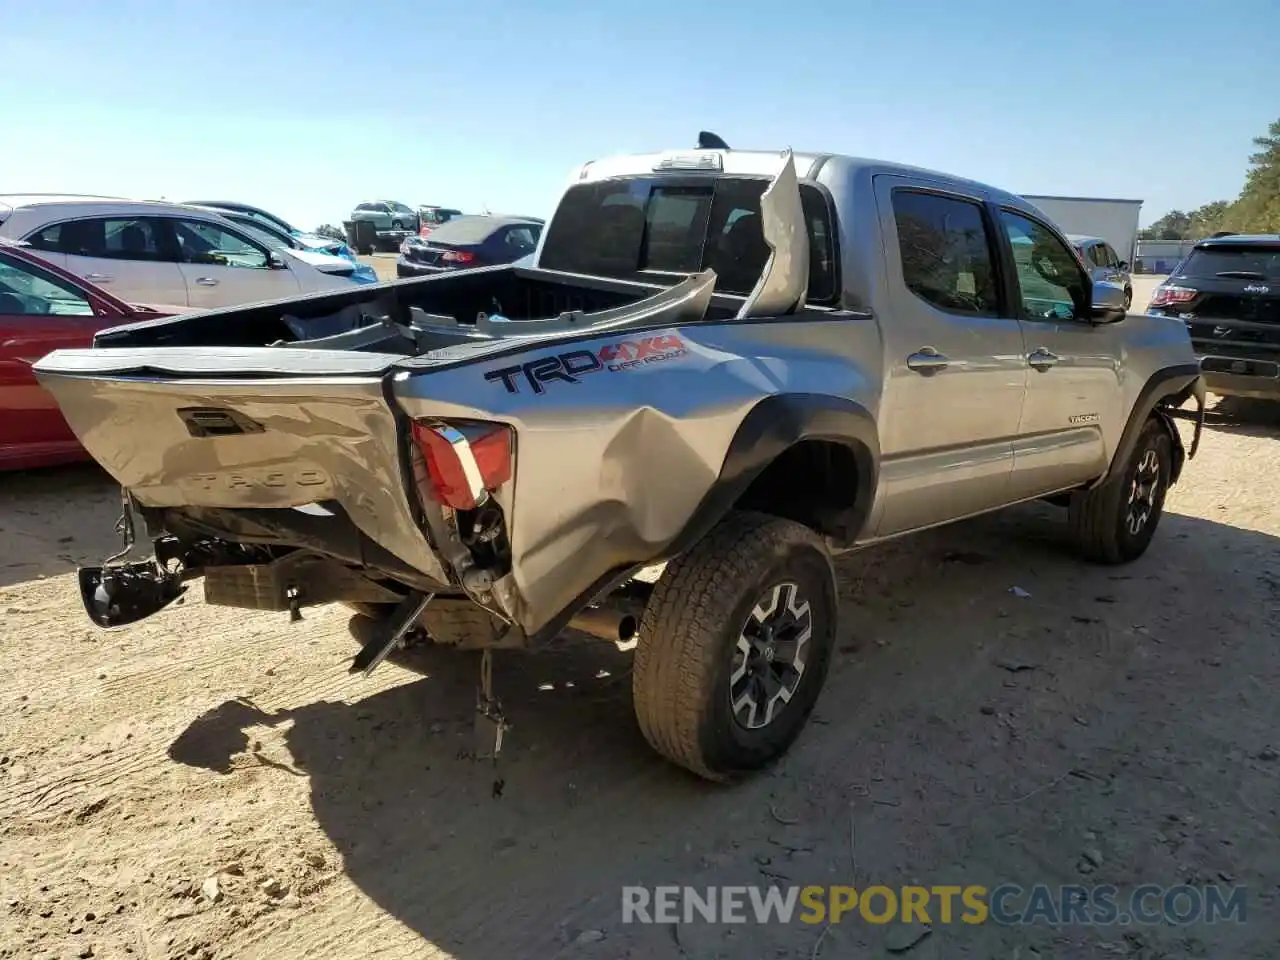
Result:
M297 296L301 287L285 259L275 262L264 244L196 216L166 218L187 303L201 310Z

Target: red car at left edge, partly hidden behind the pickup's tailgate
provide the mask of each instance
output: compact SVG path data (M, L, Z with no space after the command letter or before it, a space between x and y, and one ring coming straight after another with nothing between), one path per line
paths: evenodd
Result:
M87 460L31 365L88 347L108 326L165 316L129 306L12 242L0 241L0 470Z

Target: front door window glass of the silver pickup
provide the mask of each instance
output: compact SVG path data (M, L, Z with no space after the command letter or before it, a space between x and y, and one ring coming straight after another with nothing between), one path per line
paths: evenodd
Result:
M1066 246L1043 224L1011 210L1000 211L1000 224L1014 251L1023 314L1041 320L1087 316L1089 282Z

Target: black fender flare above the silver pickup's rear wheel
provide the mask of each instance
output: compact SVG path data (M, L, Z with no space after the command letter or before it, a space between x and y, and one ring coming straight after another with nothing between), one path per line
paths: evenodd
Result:
M676 557L704 538L774 460L803 440L829 440L854 454L854 508L837 538L851 545L867 526L879 480L876 419L846 397L780 393L764 397L742 417L724 452L719 477L663 553Z

